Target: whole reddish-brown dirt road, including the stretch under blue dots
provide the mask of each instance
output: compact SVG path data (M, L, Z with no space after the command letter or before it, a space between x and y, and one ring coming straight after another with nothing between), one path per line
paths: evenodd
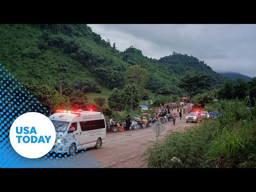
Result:
M182 119L176 119L175 125L173 125L173 122L164 123L165 130L161 133L159 139L168 134L170 130L185 131L186 127L197 125L186 123L186 116L187 110L186 114L182 114ZM48 157L45 163L50 167L147 167L141 155L150 141L156 141L156 134L151 127L124 132L107 132L106 142L103 143L101 148L78 151L73 158L66 158L62 162ZM60 156L60 158L62 157Z

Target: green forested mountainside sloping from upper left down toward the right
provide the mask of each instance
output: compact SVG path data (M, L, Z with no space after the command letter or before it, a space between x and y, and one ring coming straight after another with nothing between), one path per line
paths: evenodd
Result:
M125 71L137 64L148 71L146 89L158 94L182 94L178 83L186 74L206 74L213 86L225 79L192 56L173 52L156 60L132 46L119 52L87 25L0 25L0 43L0 62L21 83L58 90L62 81L64 94L122 88Z

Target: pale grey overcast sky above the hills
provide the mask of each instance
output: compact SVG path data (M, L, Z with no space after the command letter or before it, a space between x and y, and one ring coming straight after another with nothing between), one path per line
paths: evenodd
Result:
M119 51L131 45L160 59L172 54L193 55L217 72L256 77L256 25L217 24L90 24Z

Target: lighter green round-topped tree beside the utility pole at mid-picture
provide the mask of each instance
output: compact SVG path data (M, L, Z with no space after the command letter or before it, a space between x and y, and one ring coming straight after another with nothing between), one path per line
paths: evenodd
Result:
M140 98L143 98L145 95L145 86L148 79L148 71L139 65L131 66L125 72L125 83L129 84L130 81L134 81L134 84L139 89Z

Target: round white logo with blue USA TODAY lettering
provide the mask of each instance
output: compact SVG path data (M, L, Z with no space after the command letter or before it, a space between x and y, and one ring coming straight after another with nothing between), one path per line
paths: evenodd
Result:
M52 149L56 138L55 127L43 114L29 112L13 122L10 129L10 142L21 156L39 158Z

